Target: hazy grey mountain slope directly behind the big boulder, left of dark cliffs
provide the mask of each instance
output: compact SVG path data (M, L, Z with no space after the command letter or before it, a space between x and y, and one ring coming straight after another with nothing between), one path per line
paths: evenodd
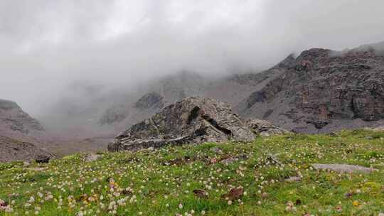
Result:
M231 106L239 104L250 92L260 89L275 74L247 73L214 79L194 72L181 72L151 82L150 88L142 92L136 102L132 99L113 105L107 109L100 123L114 126L117 131L151 117L162 108L186 97L203 96L227 102Z

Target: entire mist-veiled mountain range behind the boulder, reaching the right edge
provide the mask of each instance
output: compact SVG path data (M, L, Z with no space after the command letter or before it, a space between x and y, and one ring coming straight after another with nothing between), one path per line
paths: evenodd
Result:
M266 119L297 132L383 125L384 42L289 55L262 71L208 77L182 71L122 89L77 82L41 117L64 137L108 136L148 119L186 97L230 104L240 117Z

